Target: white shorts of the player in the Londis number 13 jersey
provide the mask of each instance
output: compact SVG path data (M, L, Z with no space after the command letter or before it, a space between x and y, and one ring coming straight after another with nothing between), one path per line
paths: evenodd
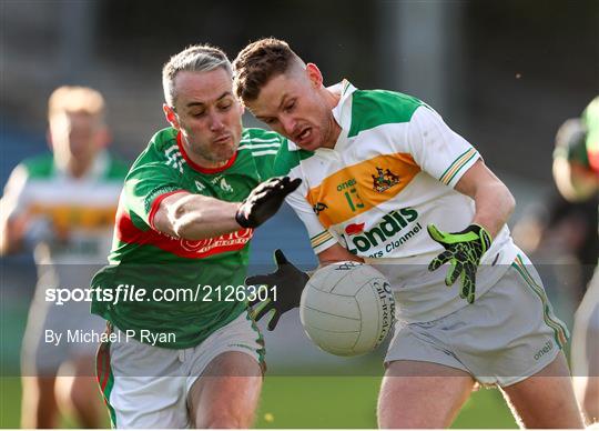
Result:
M430 322L397 322L385 363L434 362L466 371L481 384L508 387L547 367L567 340L539 274L519 254L473 304Z

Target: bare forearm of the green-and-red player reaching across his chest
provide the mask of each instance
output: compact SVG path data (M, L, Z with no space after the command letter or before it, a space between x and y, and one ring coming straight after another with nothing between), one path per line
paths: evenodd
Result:
M187 240L217 237L242 229L235 221L238 206L237 202L186 194L171 202L163 202L154 219L154 225L164 233Z

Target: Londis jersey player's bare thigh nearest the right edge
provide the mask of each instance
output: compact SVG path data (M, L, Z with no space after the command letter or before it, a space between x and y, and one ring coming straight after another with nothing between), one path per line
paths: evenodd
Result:
M583 428L566 358L502 391L526 428Z

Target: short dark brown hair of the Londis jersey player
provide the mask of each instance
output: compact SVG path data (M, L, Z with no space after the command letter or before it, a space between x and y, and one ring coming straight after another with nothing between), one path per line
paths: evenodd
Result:
M252 42L233 61L235 93L244 102L256 100L273 77L297 63L303 64L303 61L282 40L266 38Z

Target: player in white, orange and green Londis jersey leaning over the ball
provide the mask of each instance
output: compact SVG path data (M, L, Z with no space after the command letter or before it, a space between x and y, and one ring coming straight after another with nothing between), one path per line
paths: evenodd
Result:
M581 428L567 331L511 241L514 198L476 149L416 98L325 88L284 41L251 43L234 68L244 104L290 139L275 172L303 180L287 201L321 264L362 260L392 282L398 315L379 425L449 427L479 382L500 387L527 428ZM256 314L274 310L270 329L305 283L275 255L277 272L247 280L280 287Z

